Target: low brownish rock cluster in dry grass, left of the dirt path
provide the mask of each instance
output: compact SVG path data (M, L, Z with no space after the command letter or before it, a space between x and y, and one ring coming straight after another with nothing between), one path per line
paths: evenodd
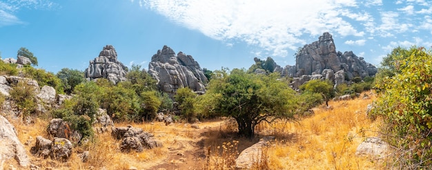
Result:
M141 152L144 147L154 149L162 146L161 142L153 138L153 134L132 126L112 127L111 135L113 138L121 140L120 150L123 152Z

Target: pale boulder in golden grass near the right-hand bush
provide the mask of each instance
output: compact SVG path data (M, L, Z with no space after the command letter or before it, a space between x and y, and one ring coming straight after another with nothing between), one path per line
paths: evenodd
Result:
M389 144L380 138L366 138L355 151L355 155L371 155L374 158L383 158L388 154Z

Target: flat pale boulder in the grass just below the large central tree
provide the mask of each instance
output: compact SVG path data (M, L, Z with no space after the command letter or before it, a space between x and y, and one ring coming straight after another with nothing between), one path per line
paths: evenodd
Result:
M267 147L269 142L275 140L273 136L267 136L259 140L256 144L253 144L251 147L248 147L239 154L239 157L235 159L235 168L236 169L251 169L253 164L257 161L261 161L262 149Z

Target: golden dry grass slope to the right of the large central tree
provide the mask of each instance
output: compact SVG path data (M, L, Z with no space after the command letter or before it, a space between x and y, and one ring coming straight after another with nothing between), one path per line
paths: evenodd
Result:
M382 162L358 157L364 136L376 136L380 120L366 117L370 100L329 102L299 122L262 124L263 133L277 136L268 151L271 169L384 169ZM263 127L264 126L264 127Z

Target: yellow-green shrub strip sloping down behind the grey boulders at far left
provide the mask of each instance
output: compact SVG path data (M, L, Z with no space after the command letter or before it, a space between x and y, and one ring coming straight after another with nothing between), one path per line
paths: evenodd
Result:
M39 86L52 86L55 88L57 93L64 93L61 79L53 73L46 72L46 70L43 69L33 68L31 66L25 66L23 68L23 73L26 77L35 79Z

